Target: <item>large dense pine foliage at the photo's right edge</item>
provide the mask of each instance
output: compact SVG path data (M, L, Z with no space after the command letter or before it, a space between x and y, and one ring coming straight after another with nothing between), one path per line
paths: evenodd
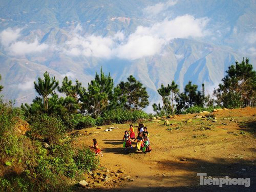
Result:
M227 108L255 106L256 71L249 64L249 59L229 66L226 73L223 83L214 91L217 104Z

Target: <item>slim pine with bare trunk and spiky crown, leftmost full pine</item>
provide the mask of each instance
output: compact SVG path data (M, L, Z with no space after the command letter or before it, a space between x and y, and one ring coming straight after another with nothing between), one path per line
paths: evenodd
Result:
M50 78L50 75L46 71L44 73L44 79L38 78L38 83L34 81L35 90L43 97L44 107L48 111L48 95L58 87L59 81L55 80L55 77Z

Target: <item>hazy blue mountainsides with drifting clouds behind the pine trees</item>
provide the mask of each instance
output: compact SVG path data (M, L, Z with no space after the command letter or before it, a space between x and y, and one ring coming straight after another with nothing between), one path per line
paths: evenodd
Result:
M0 0L2 94L31 102L33 81L46 70L87 87L100 66L115 84L134 75L150 106L172 80L180 90L191 80L210 92L236 60L249 57L256 67L255 11L253 0Z

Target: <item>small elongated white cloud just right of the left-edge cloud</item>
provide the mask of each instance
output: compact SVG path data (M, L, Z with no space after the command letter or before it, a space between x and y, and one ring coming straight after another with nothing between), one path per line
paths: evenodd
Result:
M8 49L11 55L26 55L42 52L46 48L48 48L47 44L39 44L38 40L35 39L35 41L32 43L25 41L14 42L9 46Z

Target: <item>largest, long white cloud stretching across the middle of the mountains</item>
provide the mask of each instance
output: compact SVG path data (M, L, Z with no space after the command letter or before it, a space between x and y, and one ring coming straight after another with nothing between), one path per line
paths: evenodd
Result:
M102 37L82 36L75 30L72 38L66 42L64 52L71 56L139 59L160 54L162 46L172 39L203 37L207 34L207 23L207 18L184 15L173 20L165 19L150 27L138 26L134 33L126 37L121 31Z

